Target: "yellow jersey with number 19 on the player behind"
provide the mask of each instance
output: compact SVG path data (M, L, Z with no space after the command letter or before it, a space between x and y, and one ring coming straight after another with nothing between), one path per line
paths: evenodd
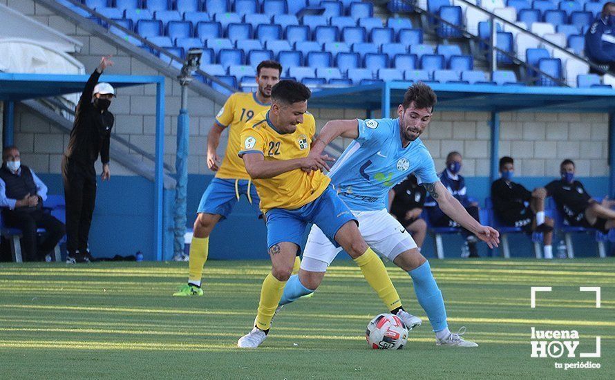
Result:
M237 155L241 146L239 135L246 122L269 109L269 106L270 104L258 102L255 93L234 93L220 108L220 112L216 115L216 124L223 128L228 127L229 140L220 169L216 172L217 178L250 179L243 166L243 160Z

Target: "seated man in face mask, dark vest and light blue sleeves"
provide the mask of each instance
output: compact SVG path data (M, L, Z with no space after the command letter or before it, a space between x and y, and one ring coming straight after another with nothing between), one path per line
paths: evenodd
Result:
M47 187L34 171L21 166L17 146L3 149L0 168L2 219L6 226L21 229L24 260L43 260L66 233L64 224L43 210L46 199ZM46 229L40 244L37 244L38 228Z

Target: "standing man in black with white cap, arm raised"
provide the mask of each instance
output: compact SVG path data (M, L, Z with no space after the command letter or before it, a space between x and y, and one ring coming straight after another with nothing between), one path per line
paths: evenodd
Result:
M113 87L97 83L103 70L113 65L103 57L88 79L77 104L73 131L62 158L62 178L66 198L67 263L93 260L88 249L88 236L96 200L96 171L94 162L102 161L102 180L108 180L109 139L113 128L113 114L107 111L115 95Z

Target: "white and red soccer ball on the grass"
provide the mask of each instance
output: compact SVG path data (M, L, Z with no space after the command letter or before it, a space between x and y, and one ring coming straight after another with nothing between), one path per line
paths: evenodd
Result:
M393 314L379 314L368 323L368 345L375 350L401 350L408 342L408 327Z

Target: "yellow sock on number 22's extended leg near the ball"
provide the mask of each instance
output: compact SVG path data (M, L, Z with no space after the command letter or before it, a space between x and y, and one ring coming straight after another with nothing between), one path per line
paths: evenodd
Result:
M393 287L393 283L386 272L382 260L371 248L368 247L364 254L355 258L354 263L359 265L363 276L376 291L382 302L384 302L384 305L388 307L388 310L395 310L397 307L401 307L399 294L397 294L397 290Z

